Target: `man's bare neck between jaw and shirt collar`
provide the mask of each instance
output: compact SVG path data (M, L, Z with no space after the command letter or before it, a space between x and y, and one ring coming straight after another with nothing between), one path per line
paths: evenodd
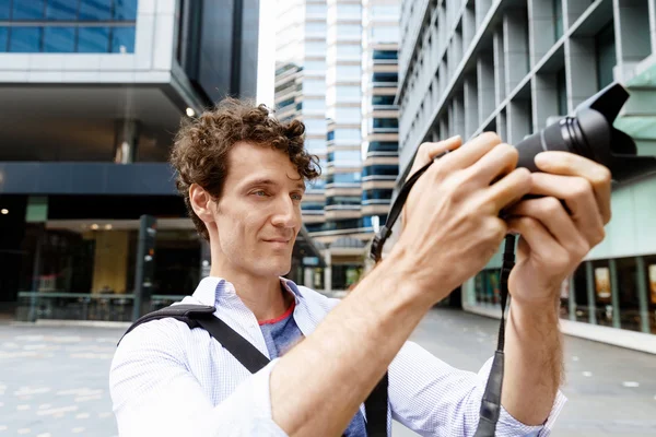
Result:
M293 299L290 293L286 291L283 293L279 277L254 277L214 267L210 275L222 277L233 284L237 296L253 311L257 320L270 320L282 316Z

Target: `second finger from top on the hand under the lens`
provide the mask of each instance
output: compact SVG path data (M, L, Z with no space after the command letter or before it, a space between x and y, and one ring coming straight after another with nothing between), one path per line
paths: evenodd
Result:
M530 193L554 197L565 201L574 224L590 247L601 243L605 237L604 218L591 184L587 179L534 173L531 182Z

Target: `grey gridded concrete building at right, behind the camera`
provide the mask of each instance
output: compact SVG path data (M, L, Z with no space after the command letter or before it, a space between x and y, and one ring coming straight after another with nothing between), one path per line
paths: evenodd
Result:
M656 155L653 1L403 1L400 186L422 142L495 131L517 143L618 81L616 127ZM656 175L616 187L613 218L562 288L565 332L656 352ZM462 286L462 306L499 312L496 257Z

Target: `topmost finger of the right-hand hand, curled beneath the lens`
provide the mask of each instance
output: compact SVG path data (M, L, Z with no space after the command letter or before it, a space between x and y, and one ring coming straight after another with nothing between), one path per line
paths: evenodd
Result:
M585 178L591 186L604 224L610 221L610 170L583 156L566 152L542 152L536 156L542 172Z

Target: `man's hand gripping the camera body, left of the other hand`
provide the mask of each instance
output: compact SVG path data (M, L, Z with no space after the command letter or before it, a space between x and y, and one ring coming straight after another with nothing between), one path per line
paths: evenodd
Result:
M507 232L500 211L531 185L530 173L515 168L517 150L495 133L461 146L457 139L424 143L418 158L432 160L445 150L452 152L410 191L403 232L390 253L401 257L408 279L433 304L484 268ZM424 164L415 163L413 170Z

